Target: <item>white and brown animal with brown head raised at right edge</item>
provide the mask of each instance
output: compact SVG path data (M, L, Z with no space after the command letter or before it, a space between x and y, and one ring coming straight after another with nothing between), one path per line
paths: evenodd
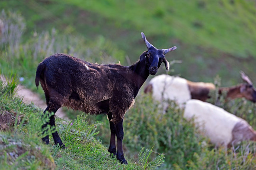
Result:
M247 100L256 102L256 90L248 76L242 71L241 77L245 81L244 84L239 84L232 87L220 87L219 93L226 91L227 98L236 99L245 97ZM189 99L198 99L205 102L209 96L210 90L214 90L215 85L212 83L191 82L181 77L174 77L169 75L155 76L146 86L144 92L152 92L154 99L162 101L176 100L182 105Z

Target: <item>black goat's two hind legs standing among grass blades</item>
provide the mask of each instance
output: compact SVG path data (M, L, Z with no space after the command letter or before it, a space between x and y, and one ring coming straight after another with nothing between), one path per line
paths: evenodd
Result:
M43 126L42 126L42 130L43 133L48 133L48 129L47 129L47 125L49 124L50 127L52 128L52 130L56 130L56 126L55 126L55 112L61 107L60 102L55 102L55 100L52 100L50 98L49 102L48 102L48 106L46 108L46 110L44 111L44 114L46 114L46 111L48 111L48 113L54 112L54 115L50 116L50 121L46 122ZM61 146L62 148L65 148L65 145L62 143L62 140L60 138L60 136L58 135L58 132L55 131L54 133L52 133L53 139L54 139L54 143L57 145L59 144L59 146ZM43 142L46 144L49 144L49 136L46 135L45 137L42 138Z

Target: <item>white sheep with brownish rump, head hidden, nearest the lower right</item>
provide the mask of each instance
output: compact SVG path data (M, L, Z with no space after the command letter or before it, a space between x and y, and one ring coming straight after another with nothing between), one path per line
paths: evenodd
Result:
M194 118L203 135L217 146L230 147L245 140L256 141L256 131L247 121L208 102L193 99L187 101L184 118Z

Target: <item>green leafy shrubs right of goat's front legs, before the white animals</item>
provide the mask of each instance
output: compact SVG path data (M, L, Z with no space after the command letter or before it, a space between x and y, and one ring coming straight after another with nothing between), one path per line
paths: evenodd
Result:
M224 105L223 97L221 96L215 103ZM235 110L238 105L232 105L232 102L229 102L229 108ZM254 104L240 103L239 113L249 117L251 115L248 115L247 109L254 110ZM110 130L106 116L90 116L90 119L103 122L100 126L99 138L108 145ZM254 119L251 119L251 122L252 120ZM254 125L253 122L251 125ZM161 108L161 103L154 102L144 93L137 96L134 107L126 113L124 133L125 153L129 156L139 154L140 147L152 148L157 153L165 153L165 164L160 169L211 170L233 169L234 167L253 169L252 167L256 166L255 143L243 142L231 149L215 148L208 143L208 139L200 136L192 120L188 121L183 118L183 109L178 108L174 102L169 101L169 107L165 112ZM149 159L152 160L157 153L152 153Z

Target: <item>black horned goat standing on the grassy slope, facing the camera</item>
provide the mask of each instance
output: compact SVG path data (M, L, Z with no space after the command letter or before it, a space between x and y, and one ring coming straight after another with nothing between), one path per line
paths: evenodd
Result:
M143 33L141 35L146 42L147 51L131 66L92 64L66 54L55 54L39 63L36 73L36 85L38 87L40 81L45 91L47 108L44 113L55 113L61 106L67 106L86 113L107 114L111 132L109 152L125 164L127 161L122 148L125 112L133 106L134 99L149 74L155 75L162 62L169 69L165 54L176 49L174 46L158 50L146 40ZM46 134L47 124L55 127L54 116L42 126ZM55 144L65 147L57 131L52 135ZM49 144L49 136L42 140Z

